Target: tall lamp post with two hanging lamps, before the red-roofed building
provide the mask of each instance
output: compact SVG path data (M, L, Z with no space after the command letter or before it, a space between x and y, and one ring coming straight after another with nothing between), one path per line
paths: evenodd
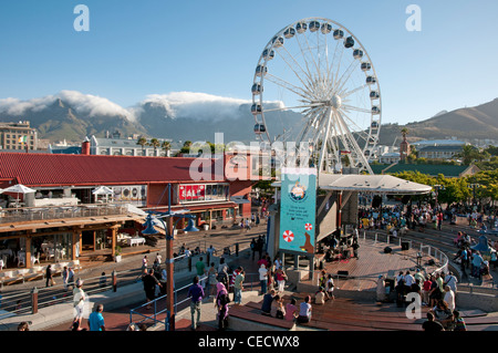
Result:
M186 210L183 210L186 211ZM188 226L185 228L185 231L199 231L194 226L194 215L183 214L183 212L172 212L172 184L168 184L168 211L167 212L160 212L157 210L148 210L147 211L147 218L145 220L144 227L146 227L142 233L143 235L155 235L158 233L158 231L154 228L154 221L153 221L153 215L156 215L156 219L160 220L163 222L164 229L166 231L166 274L167 274L167 282L166 282L166 310L168 313L166 330L167 331L175 331L175 295L174 293L174 278L173 278L173 264L175 262L174 256L173 256L173 240L174 240L174 230L176 227L176 224L183 219L188 219ZM175 224L173 224L173 218L178 218ZM167 225L164 221L164 218L167 219Z

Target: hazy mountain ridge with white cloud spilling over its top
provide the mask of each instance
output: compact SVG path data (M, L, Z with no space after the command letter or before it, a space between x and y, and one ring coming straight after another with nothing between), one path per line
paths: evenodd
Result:
M154 95L129 108L102 97L75 91L30 101L0 100L0 122L29 121L40 138L51 142L80 143L86 136L104 137L120 131L174 141L214 141L224 133L225 143L255 141L255 118L251 102L216 97L199 93L175 93L173 98ZM169 101L168 101L169 98ZM184 102L183 102L184 100ZM300 114L292 111L266 114L269 131L282 129L282 120L299 123ZM433 117L405 125L382 124L381 145L400 142L401 129L408 129L408 141L419 139L496 139L498 136L498 98L450 112L440 111Z

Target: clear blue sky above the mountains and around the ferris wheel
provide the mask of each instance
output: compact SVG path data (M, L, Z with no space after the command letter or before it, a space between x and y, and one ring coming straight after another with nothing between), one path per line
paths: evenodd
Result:
M76 32L74 7L90 9ZM422 31L405 12L422 10ZM267 42L309 17L340 22L369 51L383 123L498 97L498 1L2 0L0 98L74 90L128 107L149 94L201 92L250 100Z

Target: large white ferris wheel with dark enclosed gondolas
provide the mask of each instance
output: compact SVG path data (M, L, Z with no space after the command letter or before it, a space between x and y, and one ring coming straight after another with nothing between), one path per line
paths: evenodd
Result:
M251 113L261 145L309 146L320 170L349 165L373 174L381 89L373 63L342 24L308 18L264 46L252 82Z

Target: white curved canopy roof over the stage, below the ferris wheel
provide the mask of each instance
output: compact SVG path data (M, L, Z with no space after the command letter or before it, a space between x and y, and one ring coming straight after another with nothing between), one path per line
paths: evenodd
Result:
M281 183L271 184L280 187ZM320 174L319 188L335 191L362 191L390 195L419 195L432 191L432 186L404 180L392 175Z

